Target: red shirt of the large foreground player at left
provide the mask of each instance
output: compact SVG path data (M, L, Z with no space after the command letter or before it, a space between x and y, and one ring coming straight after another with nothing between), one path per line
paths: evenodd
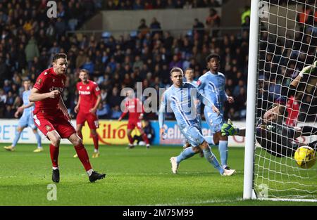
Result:
M64 90L66 81L66 75L56 75L53 67L44 70L35 82L33 88L38 89L39 93L49 93L50 91L59 90L61 93ZM49 115L57 115L62 113L58 106L59 99L61 96L56 98L45 98L42 101L35 102L35 110L33 113L36 115L37 112L49 113Z

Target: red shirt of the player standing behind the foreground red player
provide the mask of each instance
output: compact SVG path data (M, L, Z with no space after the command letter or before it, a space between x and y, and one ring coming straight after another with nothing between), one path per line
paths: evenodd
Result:
M100 94L100 89L97 83L88 80L87 84L82 82L77 83L77 90L80 95L80 112L89 112L89 109L94 108L97 102L97 96Z

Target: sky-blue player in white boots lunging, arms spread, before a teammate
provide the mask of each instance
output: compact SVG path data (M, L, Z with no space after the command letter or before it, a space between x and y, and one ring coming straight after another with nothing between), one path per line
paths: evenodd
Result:
M221 175L231 176L235 173L235 170L223 169L223 167L221 167L218 163L216 156L211 152L208 143L204 140L204 136L202 136L201 129L199 127L197 113L195 110L196 107L193 105L193 101L198 99L213 109L213 112L218 112L218 109L211 103L211 101L202 96L194 85L190 83L183 84L182 77L182 69L174 67L170 71L170 79L172 80L173 85L163 93L163 97L161 99L161 106L159 110L160 136L161 138L165 136L165 128L163 127L165 114L168 108L171 108L174 112L180 131L185 138L187 138L189 143L193 147L201 148L206 160L212 164ZM182 152L182 158L184 158L183 160L192 157L193 155L193 150L192 152L189 152L188 150L184 150ZM176 159L176 157L172 157L170 159L173 174L177 174L178 161Z

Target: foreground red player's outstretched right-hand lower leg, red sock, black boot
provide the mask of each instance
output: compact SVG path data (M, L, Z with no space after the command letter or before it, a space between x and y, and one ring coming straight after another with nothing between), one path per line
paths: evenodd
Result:
M78 158L80 159L80 162L82 162L82 165L85 167L85 170L89 176L89 181L94 182L99 179L104 179L106 174L99 174L92 169L92 165L89 162L87 150L82 144L82 139L80 139L80 137L77 136L76 133L72 134L68 139L71 143L73 143Z

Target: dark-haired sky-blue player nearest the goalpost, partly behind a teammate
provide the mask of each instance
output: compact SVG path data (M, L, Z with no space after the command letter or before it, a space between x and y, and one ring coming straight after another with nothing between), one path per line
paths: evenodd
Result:
M209 71L199 77L197 81L197 89L200 93L209 98L220 111L220 114L218 115L216 112L213 112L211 107L205 106L204 108L206 122L209 124L209 129L211 129L211 133L213 134L213 138L209 138L210 140L208 140L208 142L212 145L219 144L218 149L221 164L223 168L230 169L227 164L228 136L222 136L220 130L224 123L223 105L225 101L233 103L234 99L232 96L228 96L227 93L225 93L225 75L218 72L220 67L220 56L218 56L218 54L210 54L207 56L206 62L209 67Z

